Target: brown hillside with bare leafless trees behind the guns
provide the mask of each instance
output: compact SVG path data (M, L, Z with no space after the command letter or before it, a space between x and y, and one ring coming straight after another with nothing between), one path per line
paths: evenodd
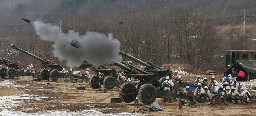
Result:
M120 50L157 65L222 72L226 50L256 50L254 0L0 0L0 6L0 57L22 68L41 67L40 61L10 44L62 65L65 61L54 58L53 43L41 40L19 16L56 26L61 19L63 32L111 33Z

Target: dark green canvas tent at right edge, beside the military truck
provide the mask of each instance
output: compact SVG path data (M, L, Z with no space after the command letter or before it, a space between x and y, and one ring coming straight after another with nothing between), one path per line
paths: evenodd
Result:
M246 81L256 79L256 61L237 61L224 71L224 75L228 76L235 68L237 74L239 71L245 72L245 77L237 77L238 81Z

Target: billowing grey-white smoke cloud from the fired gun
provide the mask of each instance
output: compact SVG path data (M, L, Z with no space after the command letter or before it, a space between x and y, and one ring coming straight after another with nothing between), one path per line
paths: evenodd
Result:
M94 67L112 64L112 59L119 62L122 60L119 55L120 42L114 39L112 34L106 36L99 32L86 32L85 35L79 35L79 32L73 30L65 34L62 33L61 27L50 23L35 21L33 25L41 39L54 42L54 57L65 60L69 67L79 67L84 60ZM73 39L81 43L81 48L70 45Z

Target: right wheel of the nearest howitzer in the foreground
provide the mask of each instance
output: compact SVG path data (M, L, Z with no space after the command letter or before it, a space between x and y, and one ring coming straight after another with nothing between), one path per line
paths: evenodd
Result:
M151 104L155 101L157 92L153 85L144 84L140 87L138 94L141 103Z

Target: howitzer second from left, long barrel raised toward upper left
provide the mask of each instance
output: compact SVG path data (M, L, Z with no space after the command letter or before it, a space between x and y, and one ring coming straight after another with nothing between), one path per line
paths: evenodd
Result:
M50 78L53 81L57 81L59 79L59 77L60 77L59 71L62 70L62 67L59 64L56 64L56 63L54 63L54 62L52 62L48 59L45 59L45 58L42 59L40 57L37 57L36 55L31 54L29 52L26 52L26 51L18 48L17 46L15 46L13 44L11 45L11 48L17 49L17 50L19 50L19 51L21 51L21 52L23 52L27 55L30 55L31 57L36 58L39 61L41 61L41 65L48 66L48 67L51 68L50 71L48 71L46 69L43 69L43 70L40 71L39 75L40 75L42 80L48 80Z

